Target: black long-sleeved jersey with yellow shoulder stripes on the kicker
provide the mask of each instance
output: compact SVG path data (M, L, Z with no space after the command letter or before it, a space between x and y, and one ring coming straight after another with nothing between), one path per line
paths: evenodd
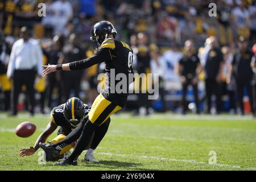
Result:
M124 42L106 39L99 51L88 59L69 64L71 70L89 68L105 62L105 88L102 95L109 101L123 107L129 93L129 85L134 81L133 50ZM121 73L121 74L120 74Z

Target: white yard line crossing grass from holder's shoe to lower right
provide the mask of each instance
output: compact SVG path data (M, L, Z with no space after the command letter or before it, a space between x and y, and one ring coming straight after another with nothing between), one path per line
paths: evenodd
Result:
M111 156L119 156L119 157L132 157L132 158L140 158L140 159L156 159L156 160L170 160L174 162L184 162L184 163L197 163L197 164L208 164L207 162L199 162L196 160L190 159L170 159L170 158L162 158L159 156L146 156L146 155L127 155L127 154L113 154L109 152L97 152L97 154L101 155L111 155ZM209 166L218 166L218 167L229 167L229 168L237 168L237 169L245 169L245 170L256 170L255 167L241 167L241 166L233 166L229 164L213 164Z

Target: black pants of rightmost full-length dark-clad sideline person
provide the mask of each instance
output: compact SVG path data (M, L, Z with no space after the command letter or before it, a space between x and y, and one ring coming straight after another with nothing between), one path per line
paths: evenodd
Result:
M251 84L251 80L248 79L237 79L237 95L238 95L238 103L242 114L245 113L243 108L243 89L246 88L250 105L251 105L251 112L254 114L254 101L253 101L253 85Z

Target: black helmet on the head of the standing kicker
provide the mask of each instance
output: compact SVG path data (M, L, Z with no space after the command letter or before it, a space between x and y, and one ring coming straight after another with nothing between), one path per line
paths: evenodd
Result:
M91 34L90 40L96 43L96 46L98 48L101 46L104 40L108 39L108 36L110 34L112 34L113 37L115 38L115 35L117 35L117 30L115 30L115 27L113 26L112 23L104 20L94 24L90 34Z

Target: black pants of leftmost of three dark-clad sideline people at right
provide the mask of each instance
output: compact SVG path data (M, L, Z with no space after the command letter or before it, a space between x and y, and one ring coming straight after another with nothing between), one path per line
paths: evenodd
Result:
M187 91L188 91L188 86L189 85L192 85L193 94L194 94L194 100L195 100L195 104L196 104L196 112L199 113L200 110L199 110L198 88L197 88L197 84L192 84L191 81L186 81L184 84L182 84L182 106L183 106L183 112L186 112L187 109L188 109L186 96L187 96Z

